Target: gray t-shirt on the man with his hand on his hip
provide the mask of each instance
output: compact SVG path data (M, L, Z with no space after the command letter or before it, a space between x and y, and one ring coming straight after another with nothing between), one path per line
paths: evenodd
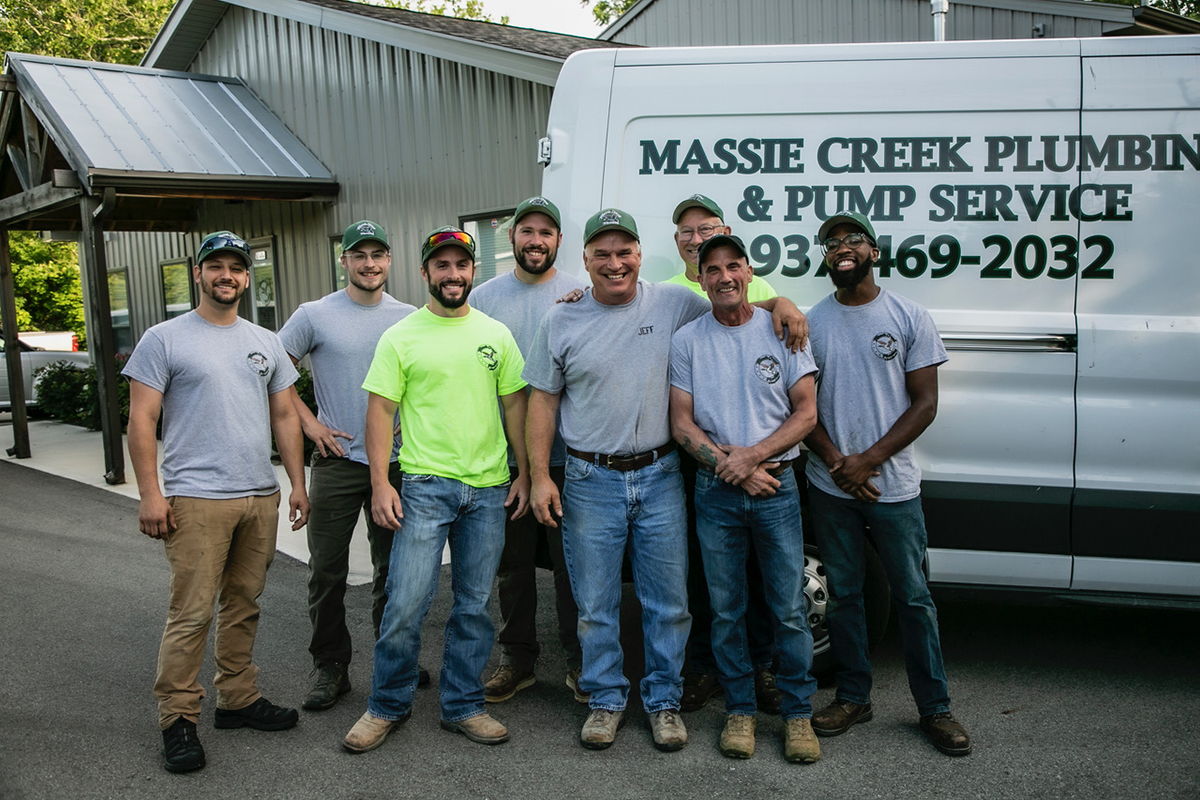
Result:
M362 380L371 368L383 332L416 311L384 293L374 306L361 306L346 291L302 303L288 318L280 339L288 354L312 363L317 419L322 425L354 438L342 441L346 456L367 463L367 392ZM391 458L400 451L398 439Z

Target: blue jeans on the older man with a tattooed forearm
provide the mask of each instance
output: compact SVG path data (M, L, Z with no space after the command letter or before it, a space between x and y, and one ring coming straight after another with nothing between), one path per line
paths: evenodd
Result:
M776 686L784 694L782 717L809 718L817 682L809 673L812 632L804 597L800 497L791 469L779 476L779 483L774 495L754 498L701 469L696 473L696 535L713 607L713 655L725 687L725 710L755 712L755 663L746 628L746 554L752 543L763 594L778 620Z

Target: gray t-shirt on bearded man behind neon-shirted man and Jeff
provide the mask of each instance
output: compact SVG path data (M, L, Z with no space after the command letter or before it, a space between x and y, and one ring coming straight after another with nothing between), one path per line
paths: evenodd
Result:
M533 339L542 317L571 289L586 289L587 284L575 276L556 271L545 283L522 283L514 272L498 275L470 293L470 306L492 319L498 319L512 331L521 355L528 357ZM509 464L516 459L509 449ZM566 463L566 445L562 433L554 432L554 444L550 450L550 465Z

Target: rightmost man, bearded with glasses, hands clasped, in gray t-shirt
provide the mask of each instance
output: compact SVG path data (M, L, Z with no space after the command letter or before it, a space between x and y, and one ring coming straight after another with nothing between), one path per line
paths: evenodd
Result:
M912 449L937 414L946 348L928 311L876 284L880 249L865 216L839 212L818 239L835 290L809 312L821 381L817 425L804 443L812 451L809 510L840 666L835 699L814 715L812 729L836 736L874 714L863 612L869 528L900 618L920 729L943 753L966 756L971 739L950 714L937 609L925 584L920 468Z

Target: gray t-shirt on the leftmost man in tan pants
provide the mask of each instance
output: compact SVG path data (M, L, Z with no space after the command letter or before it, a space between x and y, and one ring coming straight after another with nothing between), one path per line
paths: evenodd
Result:
M245 319L214 325L193 311L143 333L121 374L163 395L167 497L278 491L268 396L298 375L275 333Z

